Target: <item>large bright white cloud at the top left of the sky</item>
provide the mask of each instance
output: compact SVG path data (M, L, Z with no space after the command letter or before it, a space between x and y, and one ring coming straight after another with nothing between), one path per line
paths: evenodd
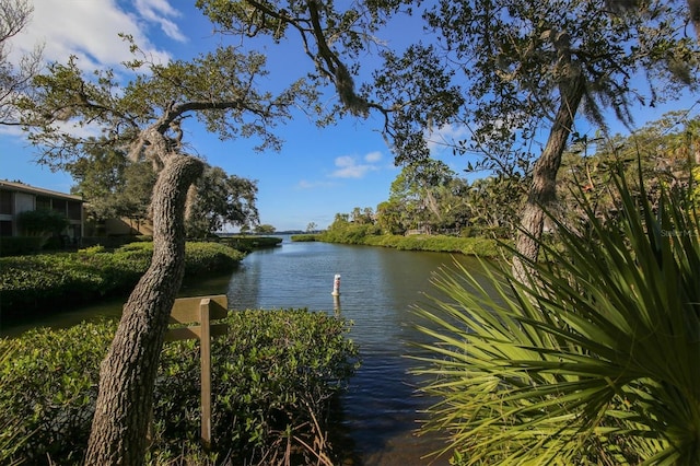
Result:
M117 66L133 57L129 45L118 37L129 34L156 62L170 59L148 37L148 26L158 24L171 38L184 40L175 23L178 12L166 0L137 0L137 10L126 11L115 0L42 0L34 2L30 24L12 40L13 57L44 44L47 61L66 62L80 58L85 70Z

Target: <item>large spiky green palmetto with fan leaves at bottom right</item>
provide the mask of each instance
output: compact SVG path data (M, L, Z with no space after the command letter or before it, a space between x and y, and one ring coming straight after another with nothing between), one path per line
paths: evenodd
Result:
M654 210L615 180L616 219L558 224L526 282L435 276L448 298L417 310L433 342L416 373L454 463L700 464L699 217L684 193Z

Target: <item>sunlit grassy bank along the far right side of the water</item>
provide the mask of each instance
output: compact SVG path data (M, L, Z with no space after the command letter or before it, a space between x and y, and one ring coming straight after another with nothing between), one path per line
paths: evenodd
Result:
M499 243L486 237L458 237L445 235L388 235L365 234L358 231L328 231L319 234L294 235L292 241L322 241L326 243L360 244L366 246L394 247L401 251L430 251L435 253L455 253L480 257L499 257Z

